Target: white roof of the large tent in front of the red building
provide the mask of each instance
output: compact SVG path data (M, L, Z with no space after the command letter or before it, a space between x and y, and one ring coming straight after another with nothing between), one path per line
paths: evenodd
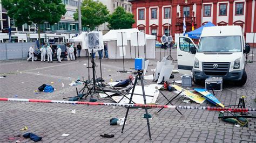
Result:
M103 35L103 41L115 41L115 40L117 40L117 33L118 32L126 32L127 40L131 40L131 34L134 33L134 32L139 32L139 30L137 30L137 28L110 30L105 35ZM146 34L146 39L156 39L156 36Z

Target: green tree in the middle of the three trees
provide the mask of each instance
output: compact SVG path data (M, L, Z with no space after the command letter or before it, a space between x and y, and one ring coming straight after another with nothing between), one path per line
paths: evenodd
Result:
M109 10L100 2L84 0L81 6L82 25L94 30L109 19ZM78 10L74 13L74 19L78 20Z

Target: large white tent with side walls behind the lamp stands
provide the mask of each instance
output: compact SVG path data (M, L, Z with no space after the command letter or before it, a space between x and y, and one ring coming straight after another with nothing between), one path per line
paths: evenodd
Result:
M110 30L105 35L103 35L103 41L107 41L107 51L109 52L109 59L122 59L123 56L119 54L119 47L116 46L117 33L126 32L127 34L127 46L125 46L125 59L134 59L138 56L145 58L144 46L131 46L131 34L134 32L139 32L137 28L122 29L122 30ZM156 58L156 37L154 35L145 34L146 38L146 58L155 59Z

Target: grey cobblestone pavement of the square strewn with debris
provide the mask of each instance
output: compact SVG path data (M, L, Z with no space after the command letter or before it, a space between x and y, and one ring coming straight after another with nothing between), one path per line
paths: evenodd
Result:
M166 52L167 53L167 52ZM173 51L176 59L176 51ZM161 56L164 55L162 51ZM159 50L157 59L150 60L150 69L156 67L160 59ZM24 60L1 61L0 97L8 98L34 98L62 100L63 97L75 96L77 87L70 87L69 83L78 77L88 78L86 58L76 61L63 61L62 63L26 62ZM96 60L97 77L100 77L99 60ZM133 68L133 60L125 60L126 70ZM177 63L176 63L177 64ZM176 65L177 66L177 65ZM131 73L120 74L122 60L102 60L103 78L109 82L122 80ZM176 67L177 68L177 67ZM256 108L256 63L248 63L246 67L248 81L244 87L235 87L232 83L225 83L223 91L216 92L217 98L225 105L238 104L241 95L246 96L247 107ZM181 74L174 74L174 80L180 80ZM169 82L171 82L170 79ZM55 91L52 93L35 94L35 90L43 83L52 84ZM62 87L62 83L64 87ZM145 81L144 84L150 84ZM201 87L200 85L193 85ZM173 92L164 91L171 98L176 95ZM97 96L95 95L95 98ZM192 105L196 103L184 103L183 98L173 101L174 105ZM98 102L112 102L110 99L99 99ZM166 104L163 96L159 95L157 103ZM203 106L211 106L205 101ZM72 110L76 113L72 114ZM249 119L248 127L235 127L218 119L219 112L206 110L181 110L181 116L176 110L164 109L155 115L158 109L149 109L153 116L150 119L152 142L256 142L255 119ZM145 110L130 109L124 133L122 126L111 126L111 118L123 118L126 109L111 106L87 106L67 105L51 103L24 103L24 102L0 102L0 142L31 142L30 139L14 137L26 132L35 133L43 137L43 142L151 142L147 132L146 119L143 118ZM253 113L253 112L252 112ZM254 113L255 115L255 113ZM20 128L28 126L28 131L20 131ZM62 134L70 134L62 137ZM102 138L100 134L114 134L114 138Z

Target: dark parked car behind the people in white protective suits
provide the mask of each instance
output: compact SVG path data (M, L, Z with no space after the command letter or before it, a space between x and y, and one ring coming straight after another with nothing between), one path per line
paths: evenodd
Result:
M60 48L62 49L62 53L60 55L60 58L62 58L62 60L64 60L64 58L66 58L66 55L68 55L68 53L66 52L66 45L64 44L52 44L52 47L55 49L55 51L57 52L57 45L60 45ZM28 52L28 57L29 57L29 52ZM47 60L48 56L47 54L45 55L45 59ZM57 54L53 54L52 60L57 59ZM34 61L39 61L41 60L41 51L40 49L38 49L37 51L35 51L34 53Z

